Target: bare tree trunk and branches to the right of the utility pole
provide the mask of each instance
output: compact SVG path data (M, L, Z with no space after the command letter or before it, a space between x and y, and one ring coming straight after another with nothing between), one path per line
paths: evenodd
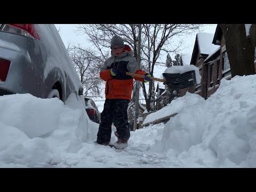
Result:
M143 33L145 34L142 40L142 61L147 63L149 74L153 76L154 67L160 62L157 62L164 53L176 53L181 51L180 47L183 44L182 37L184 35L195 33L201 25L195 24L145 24L143 25ZM178 45L173 46L173 38L180 37ZM162 63L165 65L165 63ZM150 110L150 100L153 88L153 82L149 83L148 94L145 89L145 84L142 83L143 94L146 100L146 108Z

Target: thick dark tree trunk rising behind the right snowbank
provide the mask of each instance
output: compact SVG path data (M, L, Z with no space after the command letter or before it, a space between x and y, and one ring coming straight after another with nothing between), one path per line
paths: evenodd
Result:
M225 37L231 76L255 74L255 24L246 36L244 24L219 24Z

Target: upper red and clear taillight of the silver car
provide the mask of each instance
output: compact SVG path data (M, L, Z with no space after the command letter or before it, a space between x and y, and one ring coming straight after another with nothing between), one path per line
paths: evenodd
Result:
M4 24L1 31L19 34L33 39L40 39L34 24Z

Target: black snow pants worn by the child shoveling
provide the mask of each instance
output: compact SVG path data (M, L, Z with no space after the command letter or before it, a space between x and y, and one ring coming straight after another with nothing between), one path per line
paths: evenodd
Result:
M101 113L101 123L97 134L97 142L105 144L110 142L112 123L116 127L116 132L120 139L129 140L130 129L128 123L127 99L106 99Z

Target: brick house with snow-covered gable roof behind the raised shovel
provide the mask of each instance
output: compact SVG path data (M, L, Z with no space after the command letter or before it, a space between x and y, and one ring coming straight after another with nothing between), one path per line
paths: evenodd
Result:
M186 64L183 63L183 65ZM199 73L202 77L201 83L180 90L180 97L188 91L207 99L217 91L222 78L231 79L226 42L219 25L217 25L214 34L198 33L196 35L194 50L189 64L199 68ZM256 47L254 65L256 69ZM164 90L163 86L157 85L158 94L164 94ZM159 109L161 108L157 108L157 110Z

